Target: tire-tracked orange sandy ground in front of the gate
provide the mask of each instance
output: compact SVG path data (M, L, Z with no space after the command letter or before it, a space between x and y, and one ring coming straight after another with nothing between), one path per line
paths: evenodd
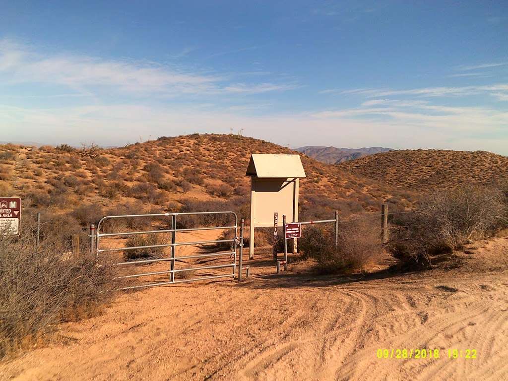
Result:
M0 374L20 380L505 380L507 262L506 238L459 253L448 268L405 275L319 277L304 264L275 275L267 252L242 283L122 295L102 316L63 326L65 342L4 363ZM378 348L437 348L439 358L378 359ZM454 348L475 350L477 358L449 359Z

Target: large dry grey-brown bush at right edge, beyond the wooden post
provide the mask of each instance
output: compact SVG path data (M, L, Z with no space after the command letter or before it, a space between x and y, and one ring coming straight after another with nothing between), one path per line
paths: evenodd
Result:
M477 186L440 192L394 223L392 255L403 266L426 267L434 257L508 225L506 197L497 188Z

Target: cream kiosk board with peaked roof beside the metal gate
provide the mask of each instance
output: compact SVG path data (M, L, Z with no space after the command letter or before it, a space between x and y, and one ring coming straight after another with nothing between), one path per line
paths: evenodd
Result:
M306 177L300 155L253 153L247 173L250 176L250 258L254 255L254 230L282 226L282 215L287 222L298 221L299 179Z

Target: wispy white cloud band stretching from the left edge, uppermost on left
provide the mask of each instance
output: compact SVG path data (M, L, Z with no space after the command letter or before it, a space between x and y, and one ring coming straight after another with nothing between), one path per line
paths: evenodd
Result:
M75 54L44 55L6 40L0 41L2 75L7 84L63 85L79 92L113 88L131 94L173 97L181 94L260 93L296 87L294 84L277 83L235 84L227 76L192 73L154 63Z

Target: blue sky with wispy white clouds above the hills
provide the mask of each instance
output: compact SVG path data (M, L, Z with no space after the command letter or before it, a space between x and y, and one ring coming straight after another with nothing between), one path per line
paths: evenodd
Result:
M0 141L508 155L508 3L0 1Z

